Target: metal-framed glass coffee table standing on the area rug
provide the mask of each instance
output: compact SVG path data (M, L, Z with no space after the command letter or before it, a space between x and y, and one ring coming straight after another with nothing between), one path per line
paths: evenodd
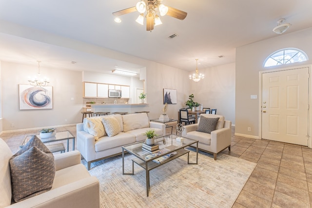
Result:
M150 190L150 171L167 163L170 162L180 156L183 156L187 154L187 164L198 164L198 141L194 139L188 139L188 138L182 138L182 141L176 140L176 138L180 138L177 135L167 135L163 137L158 137L155 139L155 144L159 145L159 149L163 150L166 149L167 152L163 154L159 154L157 156L154 156L152 158L146 158L146 156L152 155L151 153L145 152L142 150L142 142L138 142L135 144L130 144L122 147L122 174L123 175L134 175L134 163L139 165L141 168L145 169L146 172L146 195L149 195ZM190 162L190 151L184 149L187 146L190 146L192 144L196 143L196 162ZM133 156L136 156L132 159L132 173L125 173L124 171L124 154L125 152L130 153ZM156 163L153 160L157 159L159 157L165 156L169 153L176 152L177 154L174 156L171 156L164 160L161 163Z

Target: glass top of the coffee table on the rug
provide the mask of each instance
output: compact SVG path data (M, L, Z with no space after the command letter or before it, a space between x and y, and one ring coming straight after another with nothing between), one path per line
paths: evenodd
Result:
M187 147L191 144L194 144L197 142L197 140L194 139L189 139L189 138L185 138L185 137L181 137L182 141L178 141L176 140L176 138L180 138L178 135L166 135L163 137L157 137L155 139L155 144L159 145L159 149L167 149L168 151L166 151L163 155L167 155L168 153L174 152L176 150L182 149L184 147ZM148 155L151 155L151 153L145 152L144 150L142 150L142 143L144 143L145 141L142 142L138 142L135 144L130 144L130 145L126 145L123 146L122 148L124 150L126 150L127 152L139 157L140 159L144 160L144 161L149 161L149 160L153 160L154 158L150 158L150 159L146 159L145 157ZM159 155L162 156L162 155Z

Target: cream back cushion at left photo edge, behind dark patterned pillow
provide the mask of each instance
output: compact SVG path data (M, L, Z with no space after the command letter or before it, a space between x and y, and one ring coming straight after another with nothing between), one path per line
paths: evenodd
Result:
M0 139L0 208L11 204L12 189L9 160L12 155L9 146Z

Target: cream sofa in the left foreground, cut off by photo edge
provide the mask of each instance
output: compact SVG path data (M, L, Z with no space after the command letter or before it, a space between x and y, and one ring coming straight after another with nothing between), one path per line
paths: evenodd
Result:
M54 156L56 173L50 191L12 203L12 155L0 139L0 208L99 208L99 181L81 164L77 150Z

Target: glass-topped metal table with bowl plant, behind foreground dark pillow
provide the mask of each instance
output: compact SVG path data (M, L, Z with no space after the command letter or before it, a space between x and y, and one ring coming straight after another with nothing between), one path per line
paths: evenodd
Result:
M26 136L25 139L23 140L23 142L21 143L20 148L22 148L33 136L34 135ZM39 134L36 136L39 139L41 139ZM75 150L75 137L68 130L56 132L56 135L54 137L42 138L41 141L43 143L49 143L49 142L53 142L53 141L67 140L67 152L68 152L69 151L69 139L73 139L73 151L74 151Z

